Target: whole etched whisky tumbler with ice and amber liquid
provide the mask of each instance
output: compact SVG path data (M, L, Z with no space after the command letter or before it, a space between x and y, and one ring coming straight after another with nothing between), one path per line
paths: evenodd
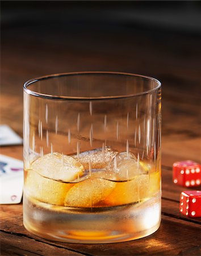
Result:
M161 221L161 83L116 72L24 84L23 223L76 243L134 240Z

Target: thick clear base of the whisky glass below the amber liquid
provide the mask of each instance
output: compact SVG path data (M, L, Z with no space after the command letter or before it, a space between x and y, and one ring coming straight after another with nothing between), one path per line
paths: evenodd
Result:
M156 232L161 222L161 193L137 204L108 208L56 207L23 199L23 222L32 234L70 243L114 243Z

